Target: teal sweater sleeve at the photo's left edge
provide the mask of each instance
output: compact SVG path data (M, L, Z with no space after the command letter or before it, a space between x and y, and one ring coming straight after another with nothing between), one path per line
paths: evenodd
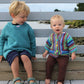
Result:
M4 29L1 31L0 35L0 55L3 56L3 47L5 43L5 31Z

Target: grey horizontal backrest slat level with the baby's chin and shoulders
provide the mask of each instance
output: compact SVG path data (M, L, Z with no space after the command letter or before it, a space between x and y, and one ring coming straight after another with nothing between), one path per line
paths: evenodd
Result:
M84 37L84 28L64 29L72 37ZM48 37L53 31L51 29L34 29L36 37Z

